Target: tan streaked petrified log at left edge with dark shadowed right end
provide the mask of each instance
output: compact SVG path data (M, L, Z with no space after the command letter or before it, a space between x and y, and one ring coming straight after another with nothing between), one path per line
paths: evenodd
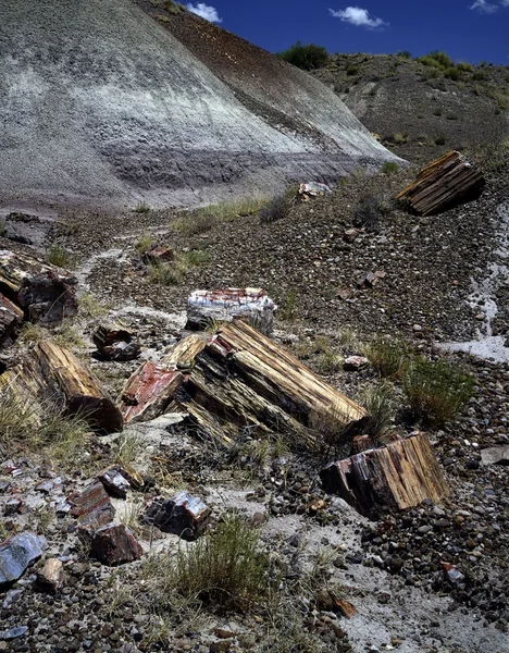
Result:
M107 432L121 431L122 415L115 403L79 360L59 345L44 341L15 368L0 377L0 393L20 401L48 402L69 415L80 415L90 426Z

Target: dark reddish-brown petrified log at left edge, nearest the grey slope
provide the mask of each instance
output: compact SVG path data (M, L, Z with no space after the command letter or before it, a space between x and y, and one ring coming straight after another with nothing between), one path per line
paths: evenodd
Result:
M0 247L8 242L0 238ZM36 256L0 249L0 293L20 306L26 319L57 326L76 315L76 279Z

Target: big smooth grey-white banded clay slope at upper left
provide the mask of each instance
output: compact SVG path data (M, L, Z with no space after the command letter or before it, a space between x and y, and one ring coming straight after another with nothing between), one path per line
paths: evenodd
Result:
M210 26L188 12L161 23L131 0L1 0L0 14L4 198L196 201L393 157L320 82L220 28L201 38ZM234 89L219 37L235 47Z

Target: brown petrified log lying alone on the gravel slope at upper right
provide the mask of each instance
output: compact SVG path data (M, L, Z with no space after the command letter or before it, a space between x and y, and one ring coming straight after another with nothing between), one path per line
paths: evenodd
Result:
M463 155L451 151L430 163L396 199L407 201L419 215L436 215L480 196L483 173Z

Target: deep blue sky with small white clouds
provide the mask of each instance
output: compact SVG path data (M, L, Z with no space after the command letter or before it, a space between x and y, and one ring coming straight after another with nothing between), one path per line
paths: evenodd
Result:
M456 60L509 65L509 0L207 0L187 7L272 52L301 40L331 52L445 50Z

